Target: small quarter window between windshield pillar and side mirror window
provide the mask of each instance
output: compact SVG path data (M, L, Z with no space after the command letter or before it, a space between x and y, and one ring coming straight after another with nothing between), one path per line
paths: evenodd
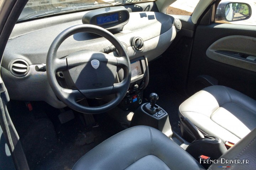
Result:
M199 0L177 0L166 10L167 14L173 15L192 15Z

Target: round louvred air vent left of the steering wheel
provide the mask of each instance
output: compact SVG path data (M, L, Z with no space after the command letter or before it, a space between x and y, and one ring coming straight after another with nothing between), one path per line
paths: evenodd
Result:
M25 60L18 59L14 60L10 64L10 72L17 76L17 77L22 77L28 73L29 66L28 63Z

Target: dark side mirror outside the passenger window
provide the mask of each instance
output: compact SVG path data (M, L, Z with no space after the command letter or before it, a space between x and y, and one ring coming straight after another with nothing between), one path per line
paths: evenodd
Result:
M218 20L241 21L251 17L251 6L246 3L222 2L218 5L216 17Z

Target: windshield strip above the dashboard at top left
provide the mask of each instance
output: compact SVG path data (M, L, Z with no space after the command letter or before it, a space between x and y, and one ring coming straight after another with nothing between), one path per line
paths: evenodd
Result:
M75 10L149 1L154 0L29 0L18 21Z

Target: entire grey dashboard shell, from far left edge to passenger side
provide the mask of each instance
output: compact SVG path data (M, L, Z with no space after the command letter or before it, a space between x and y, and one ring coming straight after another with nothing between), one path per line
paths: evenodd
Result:
M74 17L74 13L68 15ZM82 15L80 17L82 18ZM47 52L54 38L64 29L82 24L81 18L75 21L68 19L68 22L57 22L56 25L17 35L9 40L2 60L2 76L11 99L43 100L57 108L65 106L50 88L46 72L36 72L34 67L35 64L46 63ZM50 18L29 23L33 23L32 27L34 27L34 24L44 19ZM173 21L173 17L159 12L131 12L129 22L124 26L123 31L114 35L127 45L130 60L144 56L151 61L161 55L174 40L177 30L173 27ZM14 33L23 30L22 25L26 25L26 22L17 24ZM142 51L136 51L132 46L132 40L137 36L144 40ZM78 33L63 42L57 55L61 58L80 50L100 51L110 45L111 43L105 38L89 33ZM24 77L15 77L9 71L10 63L17 58L26 60L30 65L30 71Z

